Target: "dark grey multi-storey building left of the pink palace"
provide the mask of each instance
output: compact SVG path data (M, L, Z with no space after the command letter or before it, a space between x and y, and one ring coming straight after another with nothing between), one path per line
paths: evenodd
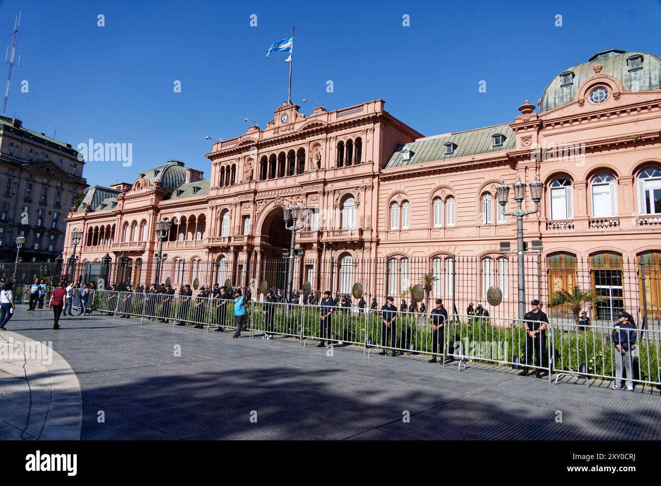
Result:
M65 217L87 188L78 151L69 143L0 116L0 261L53 261L62 253ZM22 224L22 214L27 224Z

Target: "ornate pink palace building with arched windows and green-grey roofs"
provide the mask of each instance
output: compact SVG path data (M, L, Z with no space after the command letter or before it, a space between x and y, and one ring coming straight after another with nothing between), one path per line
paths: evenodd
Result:
M164 277L280 286L290 242L282 206L302 202L310 211L297 234L305 254L296 285L349 292L360 281L380 300L431 274L430 296L453 299L460 313L500 287L514 307L494 315L517 298L515 256L500 251L501 242L516 248L516 218L502 215L496 188L537 178L543 195L524 237L542 248L525 257L527 295L548 302L580 285L604 296L591 309L597 318L622 307L658 318L657 55L598 53L553 77L537 107L525 102L513 120L459 133L423 137L382 100L311 116L298 109L282 104L264 129L215 143L209 179L170 161L134 182L89 188L67 218L64 258L81 228L81 261L124 253L125 276L149 283L153 266L143 263L157 251L155 221L167 218ZM524 207L534 206L527 192Z

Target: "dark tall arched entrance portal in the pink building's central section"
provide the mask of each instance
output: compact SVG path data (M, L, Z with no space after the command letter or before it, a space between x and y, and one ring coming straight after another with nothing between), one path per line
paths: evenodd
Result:
M259 249L264 250L262 279L266 279L270 287L286 287L287 260L282 258L282 249L289 248L291 242L292 232L285 227L282 207L274 207L262 223L259 244Z

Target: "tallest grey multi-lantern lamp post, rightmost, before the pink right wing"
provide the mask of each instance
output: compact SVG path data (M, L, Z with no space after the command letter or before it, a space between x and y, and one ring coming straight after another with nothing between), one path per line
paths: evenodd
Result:
M516 216L516 258L518 259L518 300L519 300L519 319L525 315L525 278L524 278L524 216L533 215L539 211L539 201L541 201L541 191L543 184L535 180L530 184L530 196L535 203L535 211L522 209L522 203L525 199L525 182L519 179L512 186L514 189L514 200L516 201L516 211L505 211L505 206L510 197L510 188L503 182L496 190L500 211L505 216Z

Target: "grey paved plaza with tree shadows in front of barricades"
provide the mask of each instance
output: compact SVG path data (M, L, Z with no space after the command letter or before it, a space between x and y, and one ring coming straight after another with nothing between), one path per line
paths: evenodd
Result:
M51 329L46 308L17 306L14 332L0 333L52 341L61 357L25 370L0 360L3 438L77 438L77 427L81 439L660 438L661 398L650 387L553 384L504 366L458 371L422 355L329 353L316 341L231 339L139 318L60 325Z

